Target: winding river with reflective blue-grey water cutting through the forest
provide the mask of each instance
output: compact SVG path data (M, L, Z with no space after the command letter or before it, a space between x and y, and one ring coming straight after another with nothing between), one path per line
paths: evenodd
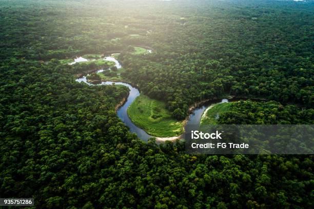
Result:
M115 67L117 69L121 68L121 65L119 63L119 61L117 61L114 57L112 56L107 56L104 58L105 60L109 60L109 61L114 61L115 63ZM80 62L80 61L86 61L84 58L82 59L81 57L77 57L74 62ZM73 63L73 62L72 62ZM97 70L96 72L103 72L104 69L101 70ZM92 83L88 83L86 76L88 76L89 74L81 77L81 78L77 78L76 81L77 82L85 82L88 85L93 86L94 84ZM129 127L130 132L135 133L136 135L138 135L138 137L144 141L147 141L149 138L151 138L152 136L147 134L143 129L136 127L135 124L130 120L128 114L127 114L127 109L130 107L131 103L134 101L134 99L136 97L138 97L140 95L140 92L138 89L132 87L131 85L129 85L128 83L125 82L112 82L112 81L106 81L106 82L101 82L99 84L96 85L112 85L112 83L115 83L115 85L123 85L126 86L130 89L129 92L129 96L127 98L127 101L124 103L124 105L122 107L119 108L119 110L117 110L117 115L118 117L126 124L127 127ZM204 111L208 108L213 106L215 103L222 103L222 102L228 102L228 99L222 99L222 100L217 100L217 101L212 101L210 103L205 103L203 106L200 106L196 109L193 110L193 113L189 115L189 118L185 124L185 127L188 125L194 125L200 124L202 115L204 113ZM160 138L160 137L156 137L157 141L165 141L165 140L174 140L178 137L169 137L169 138Z

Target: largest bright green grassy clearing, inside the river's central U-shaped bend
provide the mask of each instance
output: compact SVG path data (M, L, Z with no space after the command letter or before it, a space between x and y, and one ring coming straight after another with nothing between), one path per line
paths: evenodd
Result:
M171 137L183 133L183 122L172 118L164 102L143 94L133 101L128 115L136 126L152 136Z

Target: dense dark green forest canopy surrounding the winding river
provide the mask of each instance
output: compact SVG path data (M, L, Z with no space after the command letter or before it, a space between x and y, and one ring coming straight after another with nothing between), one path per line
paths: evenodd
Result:
M0 197L38 208L312 208L313 156L188 155L116 116L126 87L88 86L119 52L125 81L176 119L237 102L219 123L312 124L312 1L0 1ZM134 46L151 54L132 53ZM274 117L273 117L274 116Z

